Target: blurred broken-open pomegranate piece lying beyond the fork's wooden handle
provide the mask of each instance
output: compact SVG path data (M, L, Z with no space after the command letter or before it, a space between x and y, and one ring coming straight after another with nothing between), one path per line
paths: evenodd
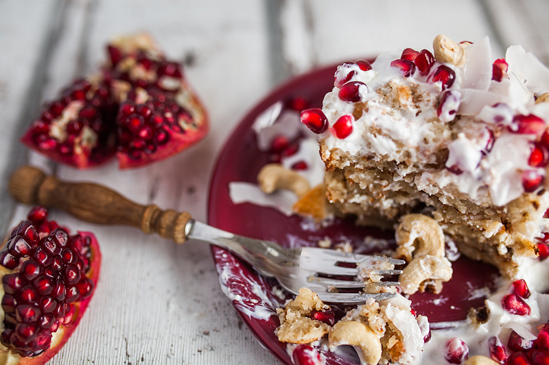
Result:
M120 168L170 157L204 138L205 108L183 75L146 34L107 46L97 75L75 81L51 101L21 141L78 168L114 155Z

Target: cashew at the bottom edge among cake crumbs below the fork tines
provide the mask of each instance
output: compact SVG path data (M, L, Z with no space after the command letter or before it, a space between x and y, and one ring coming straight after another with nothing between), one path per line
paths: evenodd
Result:
M375 365L382 358L382 343L375 332L355 320L338 322L328 335L329 348L350 344L355 348L363 365Z

